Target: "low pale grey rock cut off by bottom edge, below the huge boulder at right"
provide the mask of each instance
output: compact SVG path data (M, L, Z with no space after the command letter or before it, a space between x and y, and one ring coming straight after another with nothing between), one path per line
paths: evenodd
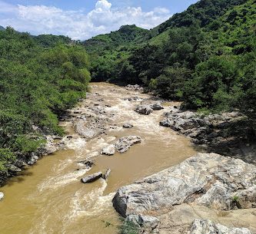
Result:
M195 219L191 225L191 229L188 234L252 234L249 229L245 228L231 228L223 226L219 223L215 224L211 220Z

